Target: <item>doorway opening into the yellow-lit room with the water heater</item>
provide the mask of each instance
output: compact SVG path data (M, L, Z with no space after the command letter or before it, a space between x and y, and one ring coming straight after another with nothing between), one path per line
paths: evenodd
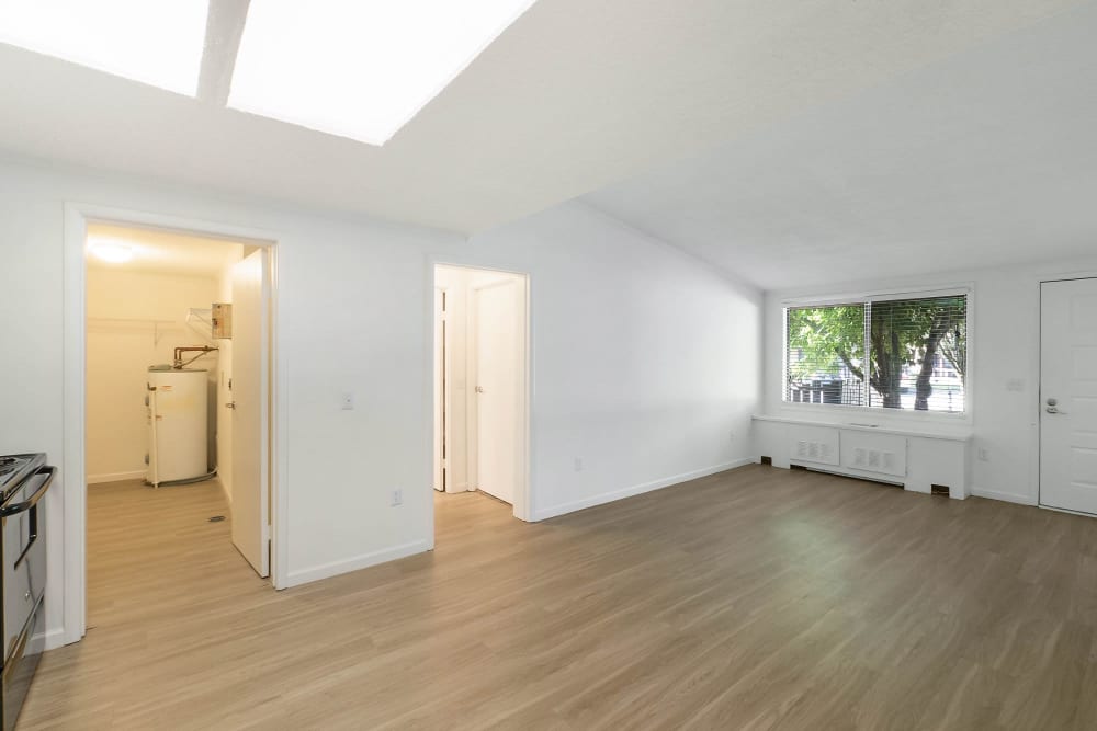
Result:
M161 583L173 601L150 574L194 586L211 567L270 575L271 258L255 241L87 225L93 624L128 616Z

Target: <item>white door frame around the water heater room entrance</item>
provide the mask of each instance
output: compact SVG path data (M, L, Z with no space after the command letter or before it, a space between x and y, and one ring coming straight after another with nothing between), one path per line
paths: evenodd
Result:
M264 229L219 221L188 218L146 210L116 208L78 202L64 205L64 301L63 301L63 445L61 496L65 550L61 557L64 597L63 630L46 637L47 649L80 641L87 631L88 584L88 484L84 459L87 392L87 272L86 244L89 224L112 224L154 228L181 233L229 239L262 247L270 258L270 505L271 505L271 583L274 589L287 585L285 519L289 509L286 490L287 403L285 359L278 336L278 238Z

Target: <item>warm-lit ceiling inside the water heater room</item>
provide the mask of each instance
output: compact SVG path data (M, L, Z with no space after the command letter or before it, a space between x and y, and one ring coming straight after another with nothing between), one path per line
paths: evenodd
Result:
M133 259L111 264L88 252L89 267L217 277L226 263L238 261L244 244L155 229L90 224L89 244L106 241L133 251Z

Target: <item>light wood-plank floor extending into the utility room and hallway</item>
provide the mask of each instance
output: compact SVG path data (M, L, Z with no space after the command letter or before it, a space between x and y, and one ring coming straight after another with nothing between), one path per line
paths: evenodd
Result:
M1092 518L751 466L275 593L216 486L89 502L21 729L1097 728Z

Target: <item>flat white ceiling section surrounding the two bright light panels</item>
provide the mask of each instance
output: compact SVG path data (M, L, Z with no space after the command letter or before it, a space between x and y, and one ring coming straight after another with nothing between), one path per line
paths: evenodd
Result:
M0 46L0 147L472 232L1076 4L540 0L383 148Z

